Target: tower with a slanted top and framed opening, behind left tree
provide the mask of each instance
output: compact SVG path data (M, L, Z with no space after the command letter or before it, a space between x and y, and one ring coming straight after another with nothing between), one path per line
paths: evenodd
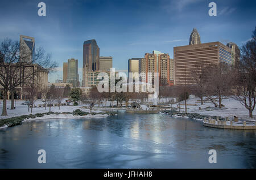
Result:
M19 38L20 59L31 63L35 58L35 38L20 35Z

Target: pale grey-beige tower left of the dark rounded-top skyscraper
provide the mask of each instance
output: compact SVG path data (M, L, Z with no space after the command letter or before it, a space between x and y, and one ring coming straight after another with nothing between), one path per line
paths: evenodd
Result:
M72 83L73 87L79 86L78 60L68 59L68 77L67 83Z

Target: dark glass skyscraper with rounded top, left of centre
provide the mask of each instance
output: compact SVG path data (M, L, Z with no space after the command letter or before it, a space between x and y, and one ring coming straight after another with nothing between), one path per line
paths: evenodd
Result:
M82 86L85 85L85 71L100 70L100 48L96 40L84 41L82 59Z

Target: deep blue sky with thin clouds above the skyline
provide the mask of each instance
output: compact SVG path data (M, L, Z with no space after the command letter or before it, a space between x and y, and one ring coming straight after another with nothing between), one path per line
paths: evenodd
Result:
M38 3L46 3L46 16L38 16ZM217 4L209 16L208 4ZM129 58L160 50L173 57L173 47L188 45L195 27L201 42L228 41L241 46L256 25L256 1L205 0L30 0L0 2L0 40L35 37L35 45L52 54L59 68L49 82L62 79L63 62L79 59L82 44L96 39L100 55L112 56L113 67L127 71Z

